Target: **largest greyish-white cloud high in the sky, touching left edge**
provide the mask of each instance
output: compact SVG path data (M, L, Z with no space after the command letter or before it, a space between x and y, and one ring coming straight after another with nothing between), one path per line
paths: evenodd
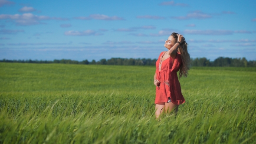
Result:
M59 18L59 17L37 16L37 15L33 15L32 13L23 13L22 15L0 14L0 20L13 20L16 23L16 25L30 26L30 25L36 25L36 24L44 24L41 22L42 20L67 20L67 19Z

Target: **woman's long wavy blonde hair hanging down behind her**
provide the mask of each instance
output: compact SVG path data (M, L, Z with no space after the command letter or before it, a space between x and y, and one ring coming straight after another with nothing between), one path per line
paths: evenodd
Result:
M173 36L177 42L177 39L178 39L177 33L172 33L171 36ZM181 60L182 60L182 64L179 72L179 78L181 79L182 76L187 77L188 70L190 69L190 66L191 66L190 55L187 52L187 43L185 41L185 38L184 38L184 42L181 43L181 45L178 47L178 52L181 53Z

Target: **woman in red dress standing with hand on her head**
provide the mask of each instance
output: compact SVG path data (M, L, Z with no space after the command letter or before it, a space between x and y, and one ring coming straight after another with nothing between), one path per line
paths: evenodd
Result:
M156 73L154 75L154 85L156 85L156 118L165 111L171 112L185 102L181 94L181 85L178 80L181 76L187 77L190 68L190 55L187 52L187 43L184 37L177 33L172 33L165 41L164 46L167 52L161 52L156 62Z

